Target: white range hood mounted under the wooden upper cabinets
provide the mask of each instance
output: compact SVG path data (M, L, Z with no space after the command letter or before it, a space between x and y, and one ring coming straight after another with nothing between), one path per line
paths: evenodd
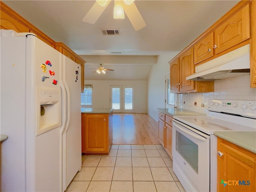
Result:
M196 67L186 80L213 81L250 74L250 44Z

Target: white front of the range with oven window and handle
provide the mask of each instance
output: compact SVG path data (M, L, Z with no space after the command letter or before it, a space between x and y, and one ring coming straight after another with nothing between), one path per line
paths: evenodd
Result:
M186 191L210 191L210 136L173 121L173 170Z

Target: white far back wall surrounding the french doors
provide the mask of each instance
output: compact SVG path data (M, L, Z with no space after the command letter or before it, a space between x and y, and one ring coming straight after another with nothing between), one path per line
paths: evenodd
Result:
M135 113L147 113L148 84L141 81L85 80L92 84L92 108L110 108L110 86L134 86Z

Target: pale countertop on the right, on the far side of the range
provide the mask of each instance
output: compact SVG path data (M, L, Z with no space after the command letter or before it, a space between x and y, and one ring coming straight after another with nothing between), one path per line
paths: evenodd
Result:
M158 108L158 110L171 116L206 116L204 113L198 113L186 109Z

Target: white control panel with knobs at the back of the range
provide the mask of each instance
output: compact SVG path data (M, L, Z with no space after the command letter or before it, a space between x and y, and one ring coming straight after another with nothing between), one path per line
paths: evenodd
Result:
M256 118L256 101L252 100L212 100L208 101L208 110L237 114Z

